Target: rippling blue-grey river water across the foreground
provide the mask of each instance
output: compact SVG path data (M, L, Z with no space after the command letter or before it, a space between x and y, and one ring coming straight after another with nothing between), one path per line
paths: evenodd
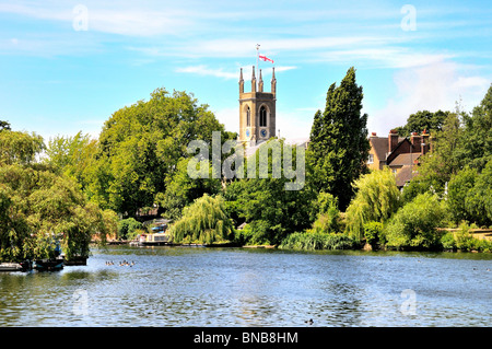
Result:
M0 274L0 326L269 327L312 318L313 327L447 327L492 319L492 254L130 246L92 254L86 266Z

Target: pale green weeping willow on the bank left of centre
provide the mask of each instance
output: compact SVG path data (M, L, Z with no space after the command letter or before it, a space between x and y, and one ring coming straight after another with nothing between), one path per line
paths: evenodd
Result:
M211 244L232 237L233 225L225 213L224 199L204 194L183 210L183 217L171 229L174 242Z

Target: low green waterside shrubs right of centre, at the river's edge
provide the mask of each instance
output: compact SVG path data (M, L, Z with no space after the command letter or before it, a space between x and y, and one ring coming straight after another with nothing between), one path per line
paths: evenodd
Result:
M292 233L280 244L282 249L351 249L354 241L348 234L337 233Z

